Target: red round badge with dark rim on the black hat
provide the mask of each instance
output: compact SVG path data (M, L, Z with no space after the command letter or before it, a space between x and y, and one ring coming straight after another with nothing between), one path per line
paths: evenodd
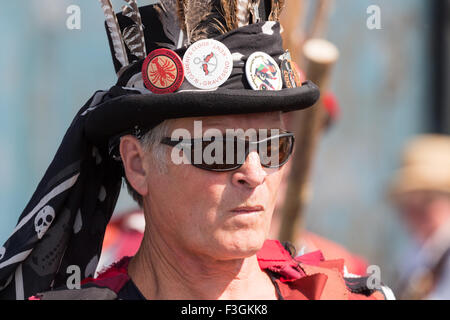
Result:
M174 51L156 49L144 60L142 79L145 87L153 93L174 92L184 80L183 63Z

